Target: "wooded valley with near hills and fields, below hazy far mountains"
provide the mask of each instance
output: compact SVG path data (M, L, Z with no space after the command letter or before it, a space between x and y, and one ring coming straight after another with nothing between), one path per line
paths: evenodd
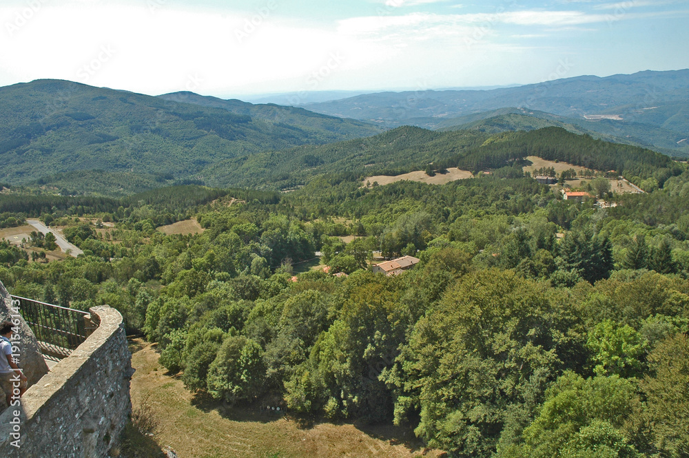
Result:
M601 83L577 81L562 84ZM383 129L72 84L0 89L0 281L121 313L136 373L120 456L689 444L689 169L594 134L630 127L615 105L598 120L500 107Z

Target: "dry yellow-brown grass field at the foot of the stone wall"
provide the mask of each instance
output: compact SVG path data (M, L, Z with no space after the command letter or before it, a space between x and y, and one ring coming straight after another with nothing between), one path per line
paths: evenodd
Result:
M301 424L263 406L223 405L185 390L165 374L154 346L132 340L132 405L150 406L158 427L152 437L184 458L440 457L424 450L411 430L394 426Z

